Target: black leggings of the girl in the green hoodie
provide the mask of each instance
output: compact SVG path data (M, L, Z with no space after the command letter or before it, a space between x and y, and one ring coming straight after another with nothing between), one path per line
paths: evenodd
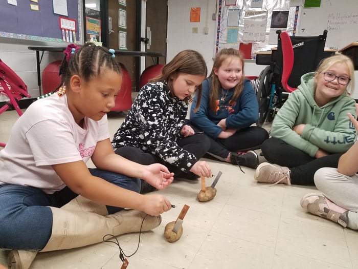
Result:
M314 185L316 171L323 167L337 168L338 160L343 154L330 154L316 159L277 138L264 141L261 151L267 161L288 167L291 171L291 183L297 185Z

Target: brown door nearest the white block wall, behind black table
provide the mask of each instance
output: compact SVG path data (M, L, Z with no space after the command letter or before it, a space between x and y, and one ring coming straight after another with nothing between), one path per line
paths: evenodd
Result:
M147 0L146 37L151 39L150 44L147 44L146 46L147 52L167 54L167 2L167 0ZM166 64L166 57L159 57L159 63L163 65ZM153 64L153 59L151 57L146 57L145 67Z

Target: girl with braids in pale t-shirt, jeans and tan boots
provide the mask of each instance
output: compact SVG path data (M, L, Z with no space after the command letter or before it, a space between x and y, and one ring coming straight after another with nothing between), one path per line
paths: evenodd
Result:
M160 194L139 194L139 178L164 189L173 173L111 147L106 113L122 83L114 50L71 44L64 54L59 91L29 106L0 151L0 249L13 250L11 268L30 267L38 251L149 231L171 208Z

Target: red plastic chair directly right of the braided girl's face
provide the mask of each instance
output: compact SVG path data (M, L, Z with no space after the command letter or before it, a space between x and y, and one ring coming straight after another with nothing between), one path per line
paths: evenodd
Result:
M122 86L115 100L115 106L110 111L129 110L132 106L132 80L125 66L120 63L122 69Z

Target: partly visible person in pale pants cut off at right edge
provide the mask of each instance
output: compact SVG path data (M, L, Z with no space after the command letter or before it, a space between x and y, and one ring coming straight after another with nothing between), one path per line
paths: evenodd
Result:
M355 105L358 110L358 105ZM348 113L355 130L358 121ZM344 153L337 168L321 168L315 174L315 184L319 191L306 194L301 199L301 206L311 214L329 219L358 230L358 144Z

